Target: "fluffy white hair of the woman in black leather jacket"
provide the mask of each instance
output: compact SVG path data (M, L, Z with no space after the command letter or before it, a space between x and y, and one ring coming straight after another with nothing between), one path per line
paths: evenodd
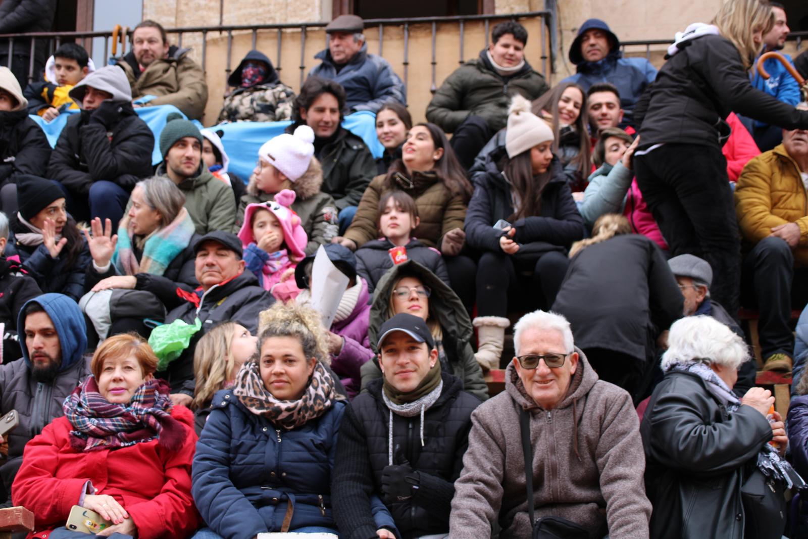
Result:
M749 349L729 327L711 316L687 316L673 322L662 356L662 369L696 360L739 368L749 359Z

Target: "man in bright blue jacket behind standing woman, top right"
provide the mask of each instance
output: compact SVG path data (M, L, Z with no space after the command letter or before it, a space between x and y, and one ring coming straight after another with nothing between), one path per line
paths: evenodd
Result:
M782 4L777 2L769 2L772 6L772 13L774 14L774 26L772 29L763 36L764 49L763 53L772 51L782 51L785 47L785 38L789 36L789 24L785 19L785 10ZM793 61L788 54L782 53L786 60L793 65ZM763 78L763 75L757 70L757 64L752 69L752 86L755 86L760 91L773 95L783 103L797 106L800 102L800 86L797 80L791 76L788 69L781 61L775 58L769 58L763 63L766 73L770 76L768 79ZM743 118L744 124L749 129L752 137L755 139L755 144L761 152L768 152L770 149L780 144L783 141L783 130L776 125L765 124L757 120L750 120ZM747 123L748 122L748 123Z

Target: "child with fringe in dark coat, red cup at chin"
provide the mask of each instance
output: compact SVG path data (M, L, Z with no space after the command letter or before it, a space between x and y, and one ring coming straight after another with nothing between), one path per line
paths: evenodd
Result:
M429 268L449 284L446 263L440 251L411 237L420 220L418 206L410 195L403 191L385 192L379 200L378 215L381 238L356 250L356 272L368 281L369 292L373 292L389 268L410 259Z

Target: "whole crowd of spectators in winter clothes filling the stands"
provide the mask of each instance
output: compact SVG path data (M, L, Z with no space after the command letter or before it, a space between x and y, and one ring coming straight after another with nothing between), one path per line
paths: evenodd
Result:
M151 20L104 67L0 67L0 503L29 537L806 537L808 87L755 68L783 6L728 0L659 70L589 19L553 87L500 23L417 124L363 32L330 22L297 95L250 51L213 128ZM286 120L239 178L223 124Z

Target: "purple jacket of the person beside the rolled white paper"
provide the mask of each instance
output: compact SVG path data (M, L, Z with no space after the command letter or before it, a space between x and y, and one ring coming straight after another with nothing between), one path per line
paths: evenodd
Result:
M360 367L373 357L368 340L370 305L368 305L368 283L362 280L362 290L356 300L353 312L341 322L331 324L331 331L345 339L339 356L331 357L331 368L343 382L348 397L354 398L359 393L361 377Z

